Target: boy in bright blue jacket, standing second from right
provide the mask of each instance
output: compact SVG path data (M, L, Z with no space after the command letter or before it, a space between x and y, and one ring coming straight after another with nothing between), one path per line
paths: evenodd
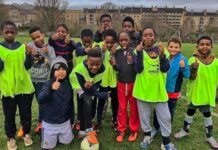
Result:
M166 89L168 94L168 107L171 114L171 122L173 121L176 109L177 99L181 96L181 86L184 78L189 78L190 71L188 60L181 53L181 42L177 38L172 38L167 44L170 53L170 70L167 72ZM151 131L151 138L155 136L160 128L157 120L156 112L154 112L154 129Z

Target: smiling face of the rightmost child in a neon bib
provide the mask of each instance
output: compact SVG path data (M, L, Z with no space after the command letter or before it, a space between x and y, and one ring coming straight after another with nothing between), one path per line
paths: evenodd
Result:
M202 39L200 40L199 44L196 46L196 48L203 54L208 54L211 49L213 48L210 40L208 39Z

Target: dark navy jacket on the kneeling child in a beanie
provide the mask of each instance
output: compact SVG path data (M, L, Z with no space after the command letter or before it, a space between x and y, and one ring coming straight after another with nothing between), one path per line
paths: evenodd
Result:
M59 81L58 90L52 90L55 79L47 81L38 97L42 106L43 120L51 124L61 124L69 120L73 114L73 91L69 80Z

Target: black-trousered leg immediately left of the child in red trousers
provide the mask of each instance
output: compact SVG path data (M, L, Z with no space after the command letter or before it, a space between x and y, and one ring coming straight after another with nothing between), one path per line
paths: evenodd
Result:
M113 123L117 122L117 112L118 112L118 96L117 96L117 88L111 88L111 108L113 114Z

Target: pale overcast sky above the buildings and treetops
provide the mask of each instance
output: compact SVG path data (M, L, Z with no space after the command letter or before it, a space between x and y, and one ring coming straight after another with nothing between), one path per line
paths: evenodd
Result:
M34 0L4 0L5 3L33 3ZM128 6L144 6L151 7L185 7L188 10L207 11L218 10L218 0L68 0L69 7L81 9L83 7L96 7L104 4L105 2L113 2L116 5Z

